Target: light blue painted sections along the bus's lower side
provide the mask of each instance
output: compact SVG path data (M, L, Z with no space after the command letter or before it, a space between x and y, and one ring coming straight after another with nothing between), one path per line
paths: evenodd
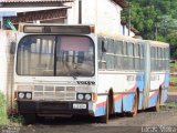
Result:
M138 110L143 109L143 90L144 90L144 72L137 73L137 88L139 89L139 100L138 100ZM165 88L169 85L169 74L165 74ZM123 103L123 111L129 112L133 110L133 103L134 103L134 95L135 94L124 94L121 99L117 99L114 101L114 111L116 113L122 113L122 103ZM157 95L158 92L153 94L153 96L148 100L148 108L155 106L157 102ZM163 90L162 92L162 102L165 102L167 99L167 90ZM105 104L100 105L96 108L95 116L101 116L105 114Z

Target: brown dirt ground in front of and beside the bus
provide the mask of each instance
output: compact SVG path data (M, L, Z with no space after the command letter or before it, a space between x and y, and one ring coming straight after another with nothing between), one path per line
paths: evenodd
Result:
M175 103L175 102L176 103ZM168 105L167 105L168 104ZM167 104L159 112L142 111L135 117L127 114L111 116L107 124L97 123L94 117L73 116L38 119L34 124L10 126L2 133L177 133L177 95L169 95ZM10 132L7 132L10 131Z

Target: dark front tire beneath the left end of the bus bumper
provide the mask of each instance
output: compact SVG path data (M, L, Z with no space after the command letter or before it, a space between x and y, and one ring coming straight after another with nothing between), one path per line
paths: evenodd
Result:
M35 122L35 114L34 113L25 113L22 114L23 116L23 124L33 124Z

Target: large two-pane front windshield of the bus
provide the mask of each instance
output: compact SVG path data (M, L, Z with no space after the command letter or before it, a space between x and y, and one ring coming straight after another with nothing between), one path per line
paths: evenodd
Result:
M17 73L32 76L93 76L94 43L83 35L27 35L18 45Z

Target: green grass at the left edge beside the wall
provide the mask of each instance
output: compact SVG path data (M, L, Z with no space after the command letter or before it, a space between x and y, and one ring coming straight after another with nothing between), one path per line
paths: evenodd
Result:
M7 125L9 123L7 115L7 104L2 92L0 92L0 125Z

